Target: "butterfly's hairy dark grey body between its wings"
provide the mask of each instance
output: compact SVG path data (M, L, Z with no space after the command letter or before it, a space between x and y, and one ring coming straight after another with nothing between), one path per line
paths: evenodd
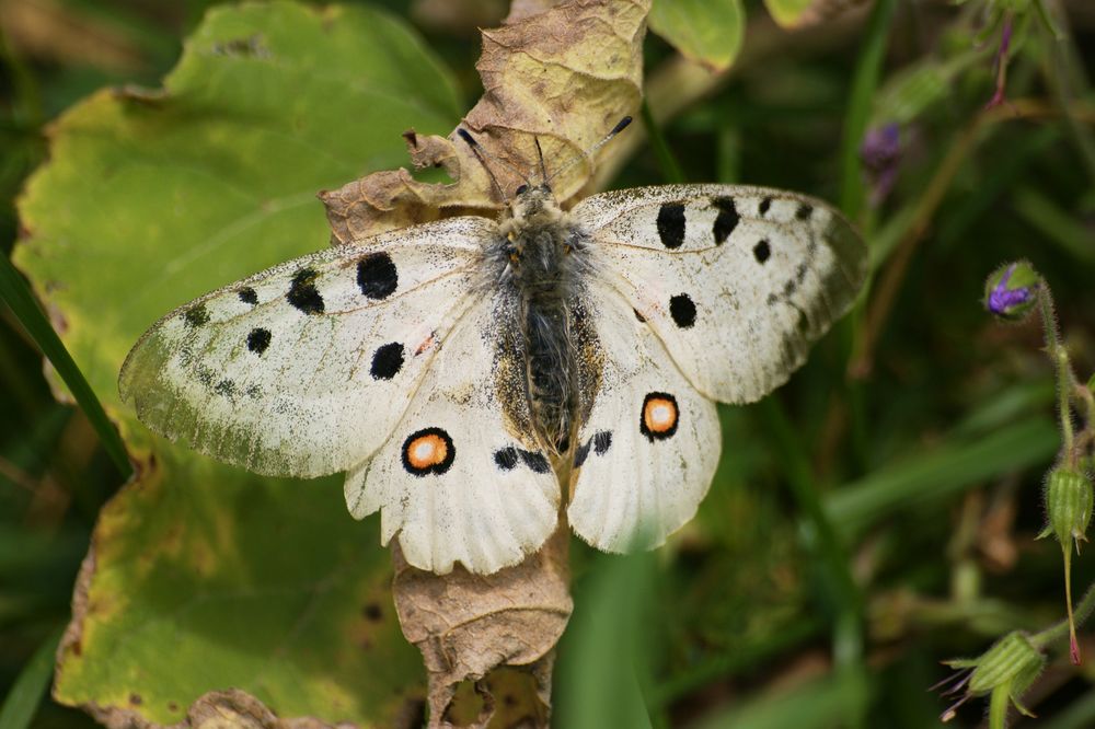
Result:
M579 408L581 287L589 238L546 186L519 189L488 251L496 281L517 302L533 426L556 453L569 449Z

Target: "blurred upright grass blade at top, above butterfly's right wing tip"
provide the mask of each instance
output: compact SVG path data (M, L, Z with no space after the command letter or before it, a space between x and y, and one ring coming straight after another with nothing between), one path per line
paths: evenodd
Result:
M863 35L863 50L852 78L851 101L844 116L844 130L840 148L840 207L850 220L858 220L866 199L863 176L860 173L860 144L867 131L871 106L881 78L886 42L897 0L878 0L867 30Z

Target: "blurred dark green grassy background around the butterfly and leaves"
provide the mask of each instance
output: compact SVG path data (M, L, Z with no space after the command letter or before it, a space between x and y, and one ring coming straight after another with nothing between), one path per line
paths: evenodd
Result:
M211 4L0 0L5 254L26 234L15 200L49 157L49 125L104 86L158 88ZM413 26L454 79L457 112L470 108L482 92L475 26L504 3L371 4ZM741 53L710 77L647 38L656 127L610 185L820 196L864 231L875 277L791 383L722 410L717 477L670 547L619 559L575 542L557 726L936 726L952 703L926 691L949 673L940 661L1063 616L1060 547L1035 540L1059 449L1052 368L1036 322L1002 326L980 305L993 268L1028 258L1052 287L1077 373L1095 370L1095 10L1045 4L1061 40L1018 0L881 0L794 34L745 2ZM1006 94L987 109L1007 18ZM380 154L397 164L402 140L387 143ZM54 204L65 217L66 200ZM85 415L54 400L7 306L0 414L0 729L92 726L37 697L123 479ZM322 493L339 506L337 487ZM1073 562L1079 595L1095 569L1086 553ZM423 678L407 676L414 705ZM1015 724L1095 726L1093 680L1090 662L1074 668L1052 646L1026 699L1039 718ZM983 713L971 701L953 724Z

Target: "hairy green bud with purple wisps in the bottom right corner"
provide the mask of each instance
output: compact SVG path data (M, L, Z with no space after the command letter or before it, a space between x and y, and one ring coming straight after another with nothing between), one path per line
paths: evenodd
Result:
M1034 716L1019 699L1041 673L1041 669L1046 666L1046 657L1025 633L1018 630L1008 633L978 658L946 663L950 668L972 669L972 671L968 674L959 673L955 685L944 692L944 696L959 692L963 694L956 704L943 713L944 721L954 718L955 710L971 697L990 694L993 701L1006 696L1019 711Z

